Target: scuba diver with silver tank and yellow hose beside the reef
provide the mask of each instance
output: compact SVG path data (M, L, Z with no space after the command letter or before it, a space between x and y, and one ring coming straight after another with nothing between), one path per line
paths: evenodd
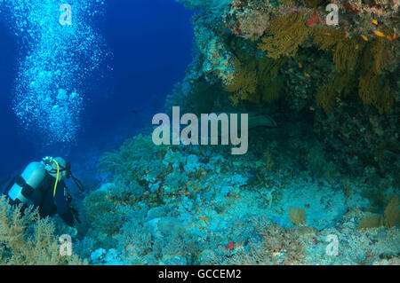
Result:
M72 178L79 190L82 183L71 173L68 161L61 157L44 157L41 162L28 164L21 175L14 177L5 187L11 205L22 203L24 208L33 205L41 217L54 216L58 213L61 219L76 234L75 221L80 223L78 212L69 206L72 198L68 193L65 180Z

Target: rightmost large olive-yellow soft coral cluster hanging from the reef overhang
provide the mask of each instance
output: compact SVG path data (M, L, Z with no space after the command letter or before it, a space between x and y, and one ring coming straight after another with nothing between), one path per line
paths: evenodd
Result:
M332 54L336 77L316 94L316 101L326 113L333 111L335 98L356 89L363 104L375 106L380 114L388 114L393 106L393 91L388 80L383 80L384 70L392 57L390 41L377 37L364 42L335 28L313 28L313 42L319 49ZM357 70L357 72L356 72ZM356 88L355 88L355 83Z

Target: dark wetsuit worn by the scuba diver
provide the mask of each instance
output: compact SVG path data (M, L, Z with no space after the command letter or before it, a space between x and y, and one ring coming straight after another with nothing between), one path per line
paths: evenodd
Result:
M53 197L53 189L55 184L55 178L46 173L43 181L32 194L30 200L34 202L36 207L39 207L39 214L41 217L54 216L56 213L60 215L62 220L68 226L74 226L74 216L71 209L68 206L68 201L64 196L64 181L60 181L57 185L55 196ZM8 195L8 192L15 183L15 178L12 182L5 187L4 194ZM12 204L18 204L20 200L12 201Z

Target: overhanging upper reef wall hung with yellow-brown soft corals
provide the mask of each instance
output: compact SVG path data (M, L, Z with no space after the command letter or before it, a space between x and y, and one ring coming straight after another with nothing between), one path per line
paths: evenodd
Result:
M196 8L194 60L167 107L274 115L280 104L312 118L342 169L398 171L398 1L178 2Z

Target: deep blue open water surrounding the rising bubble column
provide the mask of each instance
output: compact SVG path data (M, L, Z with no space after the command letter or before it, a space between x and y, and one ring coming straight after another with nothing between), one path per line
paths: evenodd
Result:
M82 129L77 144L67 147L40 145L18 126L11 110L18 38L0 20L0 181L44 155L68 156L74 166L116 148L151 126L183 79L191 61L191 12L173 0L110 0L106 7L98 28L114 53L114 71L97 85L88 82Z

